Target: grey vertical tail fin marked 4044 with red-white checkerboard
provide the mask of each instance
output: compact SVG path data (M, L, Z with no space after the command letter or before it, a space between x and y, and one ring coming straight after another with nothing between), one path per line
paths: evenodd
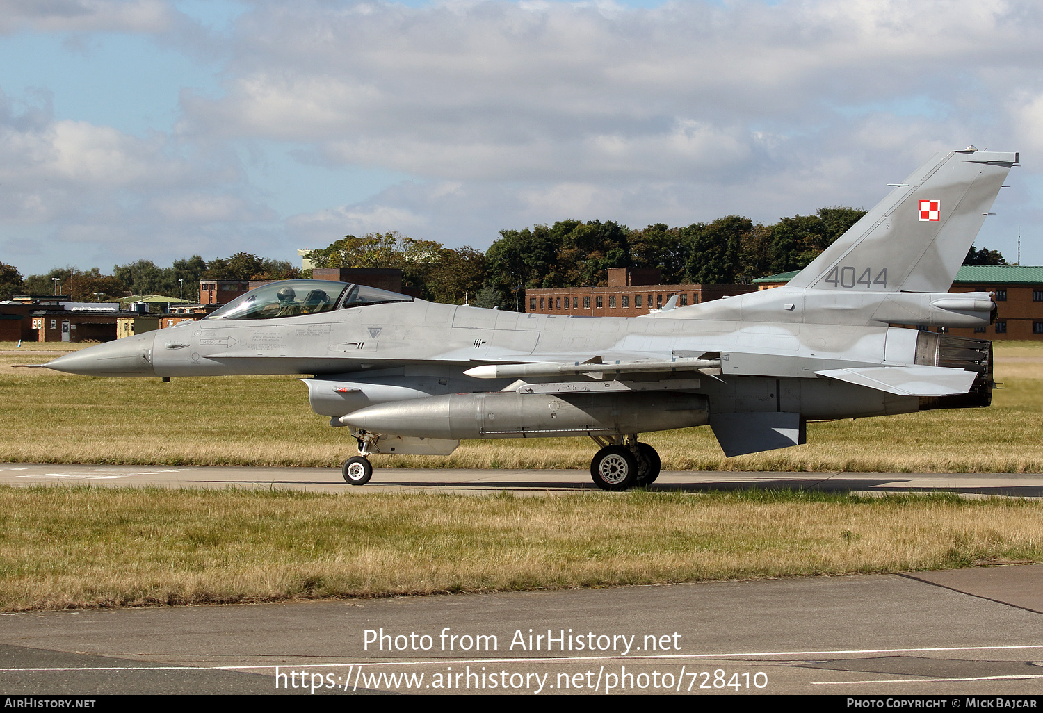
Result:
M947 292L1017 153L939 152L851 226L790 287Z

